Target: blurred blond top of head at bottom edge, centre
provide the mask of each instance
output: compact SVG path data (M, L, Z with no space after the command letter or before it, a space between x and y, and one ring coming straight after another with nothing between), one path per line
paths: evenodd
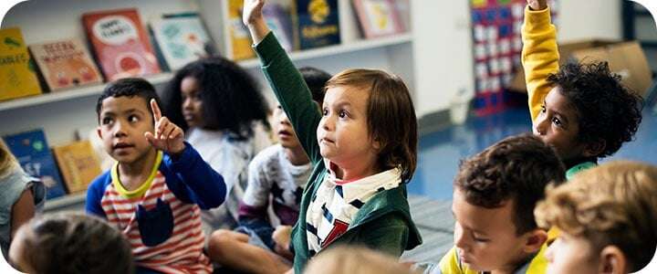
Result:
M304 273L309 274L413 274L409 267L391 257L369 248L339 246L330 248L310 260Z

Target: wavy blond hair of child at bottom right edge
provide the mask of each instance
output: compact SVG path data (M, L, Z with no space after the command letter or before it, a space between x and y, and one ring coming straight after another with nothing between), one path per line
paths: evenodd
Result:
M618 161L582 171L548 188L536 216L541 227L585 237L598 251L620 248L638 271L657 248L657 166Z

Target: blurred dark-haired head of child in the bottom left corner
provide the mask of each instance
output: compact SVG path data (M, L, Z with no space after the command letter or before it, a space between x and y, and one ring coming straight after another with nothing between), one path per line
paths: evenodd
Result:
M37 216L20 227L10 249L26 273L134 273L128 240L104 220L81 214Z

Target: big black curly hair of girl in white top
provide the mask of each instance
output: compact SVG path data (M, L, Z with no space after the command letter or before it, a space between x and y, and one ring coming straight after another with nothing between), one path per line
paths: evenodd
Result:
M189 128L183 117L181 95L181 82L186 77L193 77L199 83L206 129L227 130L239 139L253 135L253 121L261 121L269 129L266 120L269 109L256 80L235 62L214 57L185 65L162 93L164 115L183 131Z

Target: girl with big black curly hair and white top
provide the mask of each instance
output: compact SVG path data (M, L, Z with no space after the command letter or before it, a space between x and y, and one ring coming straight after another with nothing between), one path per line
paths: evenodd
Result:
M226 200L203 210L203 230L232 229L246 188L248 163L271 145L268 108L257 81L235 62L203 58L178 70L162 93L162 110L186 141L224 176Z

